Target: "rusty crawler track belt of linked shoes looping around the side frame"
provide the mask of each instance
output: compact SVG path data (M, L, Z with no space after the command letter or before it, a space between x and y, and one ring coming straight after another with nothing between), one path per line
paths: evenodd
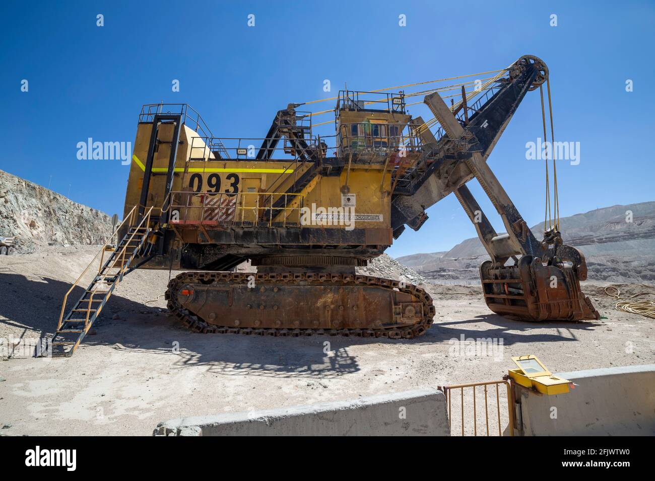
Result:
M254 276L254 277L251 277ZM404 325L393 324L393 312L375 312L379 315L379 321L375 324L381 327L366 327L362 329L300 329L280 325L279 327L239 327L220 325L219 322L232 321L229 315L215 317L214 323L202 319L193 312L189 312L179 301L178 293L185 286L198 286L198 289L230 289L230 287L244 288L248 281L254 281L257 289L281 289L284 286L324 286L326 289L333 287L373 287L388 291L390 296L396 293L410 294L413 302L421 304L421 315L412 323ZM394 292L395 291L395 292ZM382 294L382 293L381 293ZM386 293L384 293L386 295ZM259 334L260 336L312 336L313 334L323 334L329 336L358 336L358 337L386 337L392 339L411 339L415 336L421 336L432 325L434 317L434 305L432 298L424 289L415 285L405 284L400 287L398 281L392 279L383 279L381 277L354 276L349 274L315 274L315 273L288 273L288 274L249 274L237 272L183 272L171 279L168 283L168 289L165 294L168 301L168 309L180 321L185 323L189 329L195 332L217 333L217 334ZM225 307L225 306L223 306ZM250 306L248 306L250 308ZM282 312L284 314L284 312ZM370 314L370 313L369 313ZM282 315L282 317L287 317ZM221 319L218 321L217 319ZM286 322L286 321L283 321ZM318 321L314 321L318 322ZM405 321L407 322L407 321ZM386 326L385 326L386 325Z

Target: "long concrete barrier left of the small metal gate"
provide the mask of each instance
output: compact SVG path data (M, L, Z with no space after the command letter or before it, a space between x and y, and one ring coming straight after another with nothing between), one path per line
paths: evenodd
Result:
M171 419L159 436L449 436L443 392L418 389L354 401Z

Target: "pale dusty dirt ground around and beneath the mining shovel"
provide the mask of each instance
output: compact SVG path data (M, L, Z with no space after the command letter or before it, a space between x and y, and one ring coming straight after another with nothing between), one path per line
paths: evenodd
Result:
M0 346L53 332L64 293L96 249L0 258ZM514 355L536 354L553 372L655 362L654 321L617 312L598 284L584 289L600 321L511 321L487 309L479 287L449 285L431 287L437 315L420 338L271 338L188 332L157 297L168 276L126 277L73 357L21 357L19 349L0 362L0 434L150 435L171 418L500 380ZM452 341L460 336L496 346L466 349L475 345Z

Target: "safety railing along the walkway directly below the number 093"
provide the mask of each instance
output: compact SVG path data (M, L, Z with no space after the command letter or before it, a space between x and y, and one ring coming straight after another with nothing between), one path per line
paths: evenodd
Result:
M299 225L306 194L290 192L171 192L172 226ZM282 205L276 205L284 199ZM297 213L298 221L295 219ZM268 215L267 215L268 214ZM280 221L276 221L276 219Z

